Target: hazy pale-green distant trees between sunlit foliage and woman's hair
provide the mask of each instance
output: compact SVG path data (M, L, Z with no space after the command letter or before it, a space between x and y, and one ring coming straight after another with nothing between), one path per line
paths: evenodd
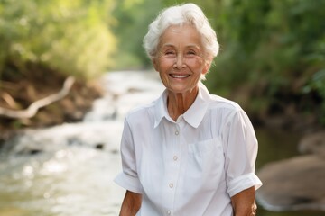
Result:
M148 10L148 8L150 8ZM150 67L146 57L143 38L149 23L161 10L160 0L121 0L116 2L113 15L116 17L114 32L118 39L116 69Z

